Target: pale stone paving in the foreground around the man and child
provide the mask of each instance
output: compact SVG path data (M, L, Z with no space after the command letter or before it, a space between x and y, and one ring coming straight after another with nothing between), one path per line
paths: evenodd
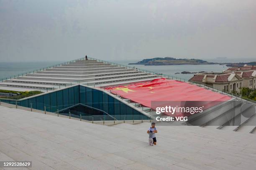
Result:
M256 169L255 134L157 126L158 143L149 146L149 126L108 127L0 106L0 160L31 160L36 170Z

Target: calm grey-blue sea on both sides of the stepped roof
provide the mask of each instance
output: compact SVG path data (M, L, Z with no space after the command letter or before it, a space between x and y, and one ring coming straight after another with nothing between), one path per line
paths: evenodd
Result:
M113 61L114 62L114 61ZM136 61L115 61L115 63L128 65L130 62ZM17 76L25 72L39 70L43 67L49 67L55 64L59 64L61 61L55 62L0 62L0 80L6 78ZM189 72L199 72L199 71L213 71L221 72L228 67L225 65L128 65L130 67L140 68L143 70L150 70L155 73L163 73L173 77L181 78L182 80L188 80L193 76L193 74L175 74L176 72L189 71Z

